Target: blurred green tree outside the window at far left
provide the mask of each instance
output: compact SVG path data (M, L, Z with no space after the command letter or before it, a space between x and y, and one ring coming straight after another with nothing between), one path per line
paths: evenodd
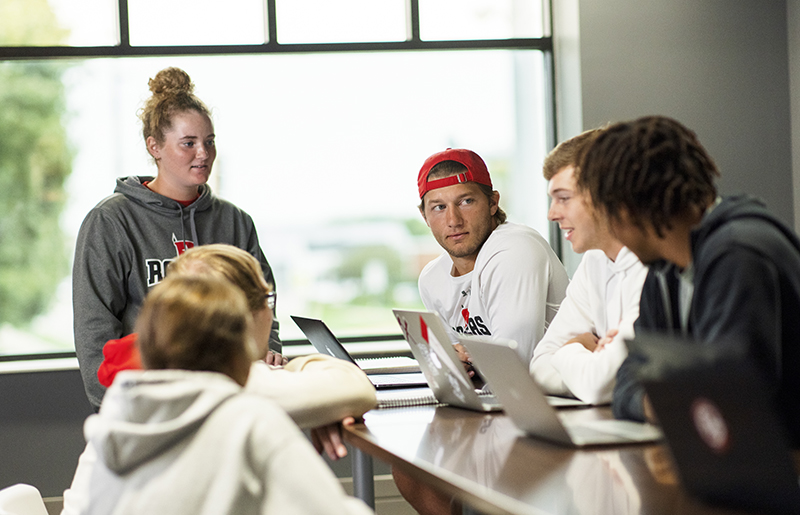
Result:
M0 45L52 45L65 35L46 0L0 2ZM0 63L0 323L23 325L42 313L68 272L59 227L72 171L65 68Z

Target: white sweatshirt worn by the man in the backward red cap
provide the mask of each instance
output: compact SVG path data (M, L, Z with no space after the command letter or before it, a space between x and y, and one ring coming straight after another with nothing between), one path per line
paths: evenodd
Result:
M444 253L422 270L425 308L455 332L515 340L528 363L569 283L547 241L530 227L504 223L481 247L472 272L453 277L452 268Z

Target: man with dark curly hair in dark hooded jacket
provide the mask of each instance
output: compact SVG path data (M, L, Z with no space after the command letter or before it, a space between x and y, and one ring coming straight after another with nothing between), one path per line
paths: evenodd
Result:
M679 122L650 116L606 128L580 162L612 234L650 267L637 334L746 345L800 443L800 241L750 196L720 198L714 161ZM651 414L628 356L613 396L619 418Z

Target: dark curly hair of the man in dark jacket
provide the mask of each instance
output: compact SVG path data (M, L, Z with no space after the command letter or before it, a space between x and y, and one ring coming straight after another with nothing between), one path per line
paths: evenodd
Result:
M625 211L659 237L676 217L703 212L717 196L711 156L694 132L664 116L607 127L584 151L580 169L578 187L610 220Z

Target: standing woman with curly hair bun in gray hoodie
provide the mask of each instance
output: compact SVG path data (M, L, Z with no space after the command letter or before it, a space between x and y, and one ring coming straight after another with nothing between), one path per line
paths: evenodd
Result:
M75 248L75 350L95 410L105 392L97 381L103 345L133 330L147 291L184 250L234 245L258 259L267 282L274 284L250 216L206 184L217 155L214 126L208 108L192 93L189 75L166 68L149 86L152 96L139 117L158 174L117 179L114 194L86 215ZM273 324L277 350L278 324ZM268 359L281 362L272 353Z

